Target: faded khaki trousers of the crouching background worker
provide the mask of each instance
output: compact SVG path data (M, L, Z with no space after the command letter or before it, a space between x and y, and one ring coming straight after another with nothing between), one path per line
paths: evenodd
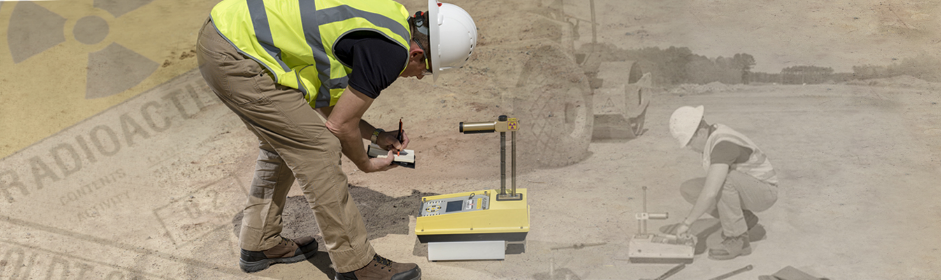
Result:
M695 204L699 193L706 185L706 178L686 181L679 187L683 198ZM726 182L716 197L715 206L706 211L719 218L722 232L726 236L740 236L748 231L742 210L762 212L771 208L777 201L777 186L766 184L758 178L731 170L726 175Z

